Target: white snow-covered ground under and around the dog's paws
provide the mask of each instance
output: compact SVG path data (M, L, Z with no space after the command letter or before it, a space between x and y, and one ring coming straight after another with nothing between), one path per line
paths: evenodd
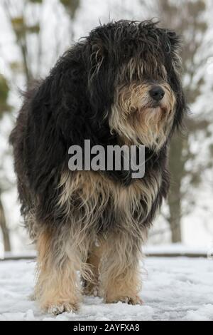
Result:
M104 304L100 298L84 297L77 314L52 316L42 314L28 298L33 292L35 262L0 262L0 321L213 321L212 260L148 257L141 270L143 306Z

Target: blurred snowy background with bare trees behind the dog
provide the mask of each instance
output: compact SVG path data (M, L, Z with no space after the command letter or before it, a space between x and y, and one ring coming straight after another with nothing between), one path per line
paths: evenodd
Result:
M9 133L20 90L58 56L109 20L155 18L182 35L182 80L192 110L170 148L168 201L148 244L213 244L213 3L211 0L0 0L0 252L28 252Z

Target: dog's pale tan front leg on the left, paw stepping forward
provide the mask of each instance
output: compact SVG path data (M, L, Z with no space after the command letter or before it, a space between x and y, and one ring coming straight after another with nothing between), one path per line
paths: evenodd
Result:
M55 230L40 232L37 248L35 298L41 308L52 314L76 311L81 299L77 277L80 257L77 250L67 247L64 236Z

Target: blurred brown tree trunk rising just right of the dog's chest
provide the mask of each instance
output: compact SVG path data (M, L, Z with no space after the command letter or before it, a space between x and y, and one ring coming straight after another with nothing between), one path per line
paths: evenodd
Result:
M170 210L169 224L172 233L172 242L182 241L181 236L181 181L184 175L184 161L182 159L182 149L184 140L180 134L175 135L170 145L169 165L171 172L171 185L168 195L168 205Z

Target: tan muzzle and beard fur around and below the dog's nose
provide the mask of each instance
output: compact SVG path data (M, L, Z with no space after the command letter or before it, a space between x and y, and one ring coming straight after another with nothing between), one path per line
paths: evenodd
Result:
M165 96L158 103L149 95L151 84L131 83L117 88L109 125L124 143L162 148L173 125L175 96L167 83L160 86Z

